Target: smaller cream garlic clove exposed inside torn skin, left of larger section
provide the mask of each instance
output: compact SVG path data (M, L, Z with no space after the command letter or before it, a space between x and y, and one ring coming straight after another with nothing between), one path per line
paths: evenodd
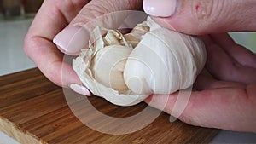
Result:
M127 57L132 48L122 45L110 45L100 49L91 61L90 69L94 78L109 88L125 93L127 88L123 72Z

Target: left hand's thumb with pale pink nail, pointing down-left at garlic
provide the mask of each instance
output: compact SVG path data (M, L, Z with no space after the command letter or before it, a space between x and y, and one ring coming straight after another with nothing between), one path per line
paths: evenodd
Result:
M125 15L112 12L142 9L143 0L94 0L86 4L79 14L54 39L54 43L68 55L79 55L88 47L90 32L95 26L118 28ZM111 14L110 14L111 13ZM102 15L109 14L103 17ZM129 27L130 28L130 27Z

